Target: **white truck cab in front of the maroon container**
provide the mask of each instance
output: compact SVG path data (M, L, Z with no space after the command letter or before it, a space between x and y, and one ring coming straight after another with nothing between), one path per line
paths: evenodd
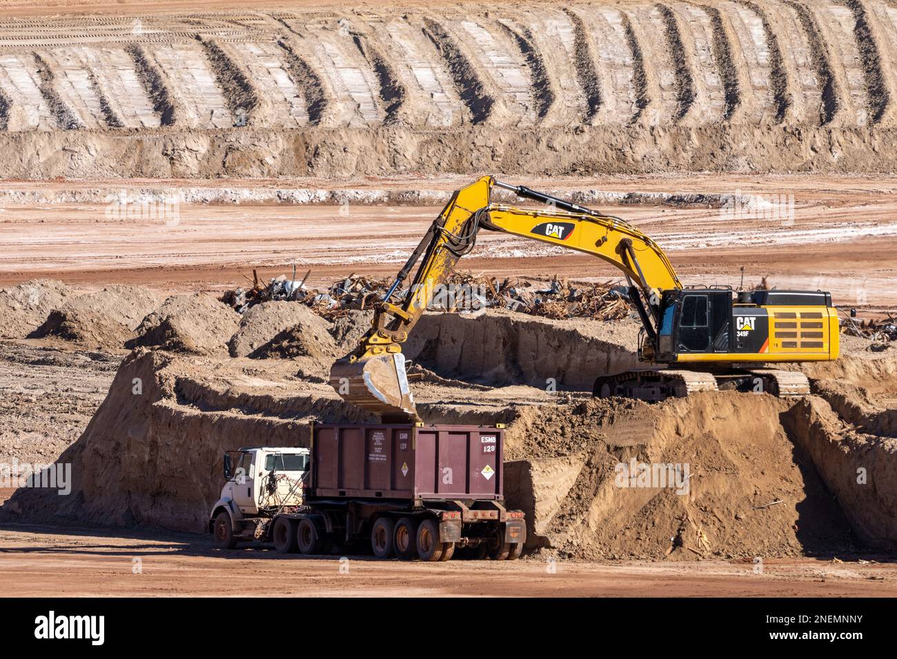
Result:
M302 505L311 454L299 447L244 447L224 454L224 486L209 531L224 546L253 540L286 508Z

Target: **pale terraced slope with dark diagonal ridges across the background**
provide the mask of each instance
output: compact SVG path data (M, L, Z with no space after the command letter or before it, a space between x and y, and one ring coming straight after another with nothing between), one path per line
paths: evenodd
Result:
M0 162L16 177L893 171L895 60L893 0L5 20L15 155Z

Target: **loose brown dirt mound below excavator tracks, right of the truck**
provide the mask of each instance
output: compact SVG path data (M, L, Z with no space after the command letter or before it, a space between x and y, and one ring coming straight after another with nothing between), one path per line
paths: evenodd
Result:
M541 457L509 465L509 505L531 513L531 545L581 559L853 551L847 520L779 422L787 410L720 392L524 414L510 454Z

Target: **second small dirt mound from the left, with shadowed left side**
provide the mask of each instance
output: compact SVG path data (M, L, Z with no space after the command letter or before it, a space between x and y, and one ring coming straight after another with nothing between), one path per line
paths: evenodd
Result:
M58 336L91 347L120 349L137 325L159 306L158 296L142 286L109 286L79 295L50 312L31 336Z

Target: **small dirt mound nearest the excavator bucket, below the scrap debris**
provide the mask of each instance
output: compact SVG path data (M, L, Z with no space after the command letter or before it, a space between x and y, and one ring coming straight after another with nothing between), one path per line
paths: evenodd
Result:
M330 331L324 318L298 302L263 302L240 319L231 357L330 359L335 355Z

